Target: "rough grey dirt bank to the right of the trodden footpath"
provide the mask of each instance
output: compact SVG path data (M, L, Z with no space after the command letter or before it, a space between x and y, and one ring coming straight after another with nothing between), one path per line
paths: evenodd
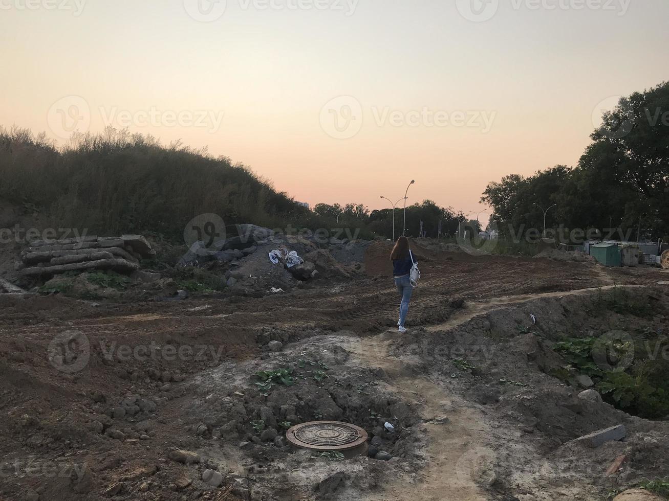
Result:
M593 497L585 498L594 499L669 470L664 453L669 415L652 421L616 409L629 405L619 397L632 389L613 392L607 378L645 366L642 353L634 355L635 340L637 347L650 344L662 353L668 345L669 297L648 289L630 292L624 300L615 294L581 293L493 308L448 330L412 329L389 347L407 370L445 383L497 428L477 445L492 464L492 480L484 482L490 496L520 499L524 492L553 499L551 492L562 490L589 492ZM636 310L639 299L656 303L652 313ZM607 343L611 333L626 333L616 339L632 341L632 360L609 351L621 348ZM601 344L579 355L582 360L560 349L560 343L578 345L570 340L591 338ZM592 391L586 397L587 389ZM626 427L622 442L590 449L577 440L619 425ZM604 475L620 456L627 458L622 470Z

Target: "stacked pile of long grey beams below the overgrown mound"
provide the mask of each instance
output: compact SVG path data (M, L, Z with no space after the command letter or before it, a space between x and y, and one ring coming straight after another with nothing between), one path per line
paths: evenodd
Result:
M21 252L21 273L30 277L86 270L129 274L139 269L140 259L155 255L140 235L37 240Z

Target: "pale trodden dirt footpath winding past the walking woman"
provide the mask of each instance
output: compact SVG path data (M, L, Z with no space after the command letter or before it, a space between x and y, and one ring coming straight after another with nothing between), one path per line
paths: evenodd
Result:
M612 289L609 285L601 289ZM636 286L629 286L636 287ZM508 305L541 298L565 295L587 295L599 289L579 289L568 292L541 293L499 297L469 305L458 311L446 323L426 327L428 332L446 331ZM390 353L398 334L389 329L374 337L351 341L347 349L370 367L381 367L391 379L391 388L419 404L419 413L425 420L429 436L428 462L417 485L398 478L385 486L381 494L370 496L375 501L405 501L419 498L425 501L486 501L480 482L480 468L486 460L486 452L492 448L489 442L492 424L478 409L454 395L445 385L427 377L408 373L403 362ZM385 354L385 355L384 355ZM442 420L448 415L448 419ZM448 493L448 498L444 495ZM417 496L418 495L418 496Z

